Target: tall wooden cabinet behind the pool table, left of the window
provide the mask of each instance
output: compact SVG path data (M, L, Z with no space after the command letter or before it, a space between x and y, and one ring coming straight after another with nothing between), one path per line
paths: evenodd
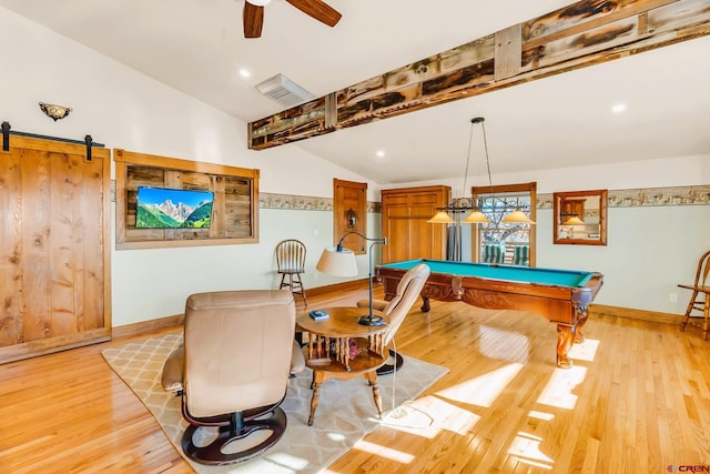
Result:
M383 263L413 259L446 259L446 225L426 221L436 208L448 204L452 189L444 185L382 191Z

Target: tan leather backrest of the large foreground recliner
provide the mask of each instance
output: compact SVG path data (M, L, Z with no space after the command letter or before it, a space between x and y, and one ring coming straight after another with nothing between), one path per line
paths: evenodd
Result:
M277 403L286 393L296 321L291 291L187 297L184 400L196 417Z

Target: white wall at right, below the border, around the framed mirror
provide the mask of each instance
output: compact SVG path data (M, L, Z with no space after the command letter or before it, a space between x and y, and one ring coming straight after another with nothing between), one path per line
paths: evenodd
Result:
M537 212L537 265L605 275L599 304L682 314L700 255L710 250L710 206L610 208L607 245L554 245L552 212ZM677 301L671 302L671 294Z

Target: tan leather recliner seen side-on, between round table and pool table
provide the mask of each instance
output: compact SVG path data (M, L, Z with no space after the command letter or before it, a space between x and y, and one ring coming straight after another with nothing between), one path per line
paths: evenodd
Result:
M429 278L432 270L424 263L413 266L404 274L397 284L397 293L390 301L373 300L373 309L379 310L389 316L389 327L385 333L385 345L389 345L395 333L402 325L412 305L419 297L422 289ZM369 300L361 300L357 302L359 307L369 307ZM389 350L389 356L394 359L394 364L385 364L377 369L377 375L389 374L402 366L404 360L396 351Z

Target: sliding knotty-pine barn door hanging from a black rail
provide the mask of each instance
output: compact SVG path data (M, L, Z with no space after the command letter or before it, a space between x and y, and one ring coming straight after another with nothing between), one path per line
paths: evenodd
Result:
M0 149L0 363L109 340L110 152Z

